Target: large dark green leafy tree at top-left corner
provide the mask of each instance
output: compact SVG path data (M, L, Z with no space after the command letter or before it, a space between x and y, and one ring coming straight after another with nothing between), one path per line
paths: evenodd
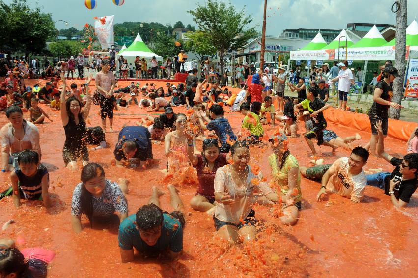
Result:
M0 17L1 43L26 56L42 52L55 32L51 14L42 13L39 7L31 9L27 0L14 0L10 5L0 1Z

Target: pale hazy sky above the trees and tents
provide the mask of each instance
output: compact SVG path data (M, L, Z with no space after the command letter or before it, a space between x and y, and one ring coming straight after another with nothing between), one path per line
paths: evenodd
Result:
M3 0L9 4L12 0ZM115 23L124 21L154 21L162 24L182 21L185 25L196 24L187 10L195 9L194 0L125 0L116 6L112 0L97 0L97 8L88 10L84 0L28 0L30 6L43 7L56 23L56 28L83 28L92 24L93 17L114 15ZM200 1L204 3L205 1ZM285 28L342 29L350 22L395 24L396 16L390 11L394 0L268 0L267 35L280 35ZM245 12L253 17L253 25L261 30L263 0L231 0L237 10L246 6ZM416 17L418 0L408 1L408 24Z

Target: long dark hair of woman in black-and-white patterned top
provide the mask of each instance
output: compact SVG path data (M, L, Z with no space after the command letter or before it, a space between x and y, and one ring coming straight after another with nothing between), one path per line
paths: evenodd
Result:
M81 170L81 196L80 196L80 205L81 205L81 212L84 213L88 221L90 222L90 227L93 227L93 195L85 188L85 183L92 178L97 176L105 176L105 170L103 167L95 162L90 162L86 166L83 167Z

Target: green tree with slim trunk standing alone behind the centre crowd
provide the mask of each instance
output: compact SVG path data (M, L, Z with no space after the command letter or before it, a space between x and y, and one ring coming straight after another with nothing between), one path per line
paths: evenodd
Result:
M208 34L210 43L218 49L222 78L224 56L244 47L256 35L255 27L247 28L252 17L244 13L244 8L236 11L231 2L227 5L208 0L205 6L198 4L195 10L188 11L200 30Z

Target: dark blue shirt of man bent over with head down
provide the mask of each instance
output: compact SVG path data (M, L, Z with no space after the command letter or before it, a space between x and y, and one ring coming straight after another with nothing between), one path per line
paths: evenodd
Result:
M126 159L126 156L122 150L122 146L127 141L134 141L137 145L137 151L133 158L139 158L141 161L152 158L151 134L146 127L126 126L122 128L122 130L119 132L117 144L113 152L114 158L117 161Z

